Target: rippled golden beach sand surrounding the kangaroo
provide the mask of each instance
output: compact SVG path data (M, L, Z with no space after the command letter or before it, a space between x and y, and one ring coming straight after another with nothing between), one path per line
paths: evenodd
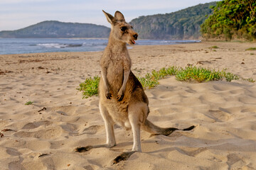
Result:
M210 49L213 45L219 48ZM132 70L188 64L227 69L256 79L256 47L249 42L132 46ZM78 88L100 75L102 52L0 55L0 169L256 169L256 83L194 83L167 77L146 90L148 119L161 127L187 128L169 136L142 131L142 153L112 164L132 149L132 132L115 126L117 146L88 152L75 147L105 143L99 98ZM31 105L26 102L33 101Z

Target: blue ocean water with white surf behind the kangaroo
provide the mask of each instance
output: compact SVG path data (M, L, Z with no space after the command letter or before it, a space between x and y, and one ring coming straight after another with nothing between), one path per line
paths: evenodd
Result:
M0 38L0 55L36 52L102 51L105 49L107 41L107 39L79 38ZM193 42L200 42L200 40L137 40L136 45L174 45Z

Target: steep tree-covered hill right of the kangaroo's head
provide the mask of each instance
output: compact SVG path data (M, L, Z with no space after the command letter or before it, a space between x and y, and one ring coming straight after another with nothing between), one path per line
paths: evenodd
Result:
M200 26L213 13L216 2L199 4L174 13L140 16L130 23L142 39L183 40L201 37Z

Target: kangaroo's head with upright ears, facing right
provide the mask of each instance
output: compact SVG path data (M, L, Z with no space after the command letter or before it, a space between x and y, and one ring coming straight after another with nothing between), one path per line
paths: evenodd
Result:
M132 30L132 26L129 25L129 23L125 22L123 14L119 11L116 11L114 16L105 11L103 11L103 13L107 17L107 21L111 23L112 36L118 41L134 45L135 40L138 38L138 34Z

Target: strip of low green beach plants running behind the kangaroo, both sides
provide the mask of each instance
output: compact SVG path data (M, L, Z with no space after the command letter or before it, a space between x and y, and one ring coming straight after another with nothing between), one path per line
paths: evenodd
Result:
M146 74L145 77L138 77L142 83L144 89L151 89L159 84L160 79L164 79L167 76L175 75L178 81L191 81L194 80L198 83L206 81L218 81L225 78L226 81L232 81L239 79L238 75L230 72L215 71L212 69L206 69L203 67L167 67L162 68L159 71L153 70L150 74ZM253 79L244 79L246 81L255 82ZM97 95L100 77L94 77L85 79L85 82L80 84L79 91L82 91L82 98L88 98L93 95Z

